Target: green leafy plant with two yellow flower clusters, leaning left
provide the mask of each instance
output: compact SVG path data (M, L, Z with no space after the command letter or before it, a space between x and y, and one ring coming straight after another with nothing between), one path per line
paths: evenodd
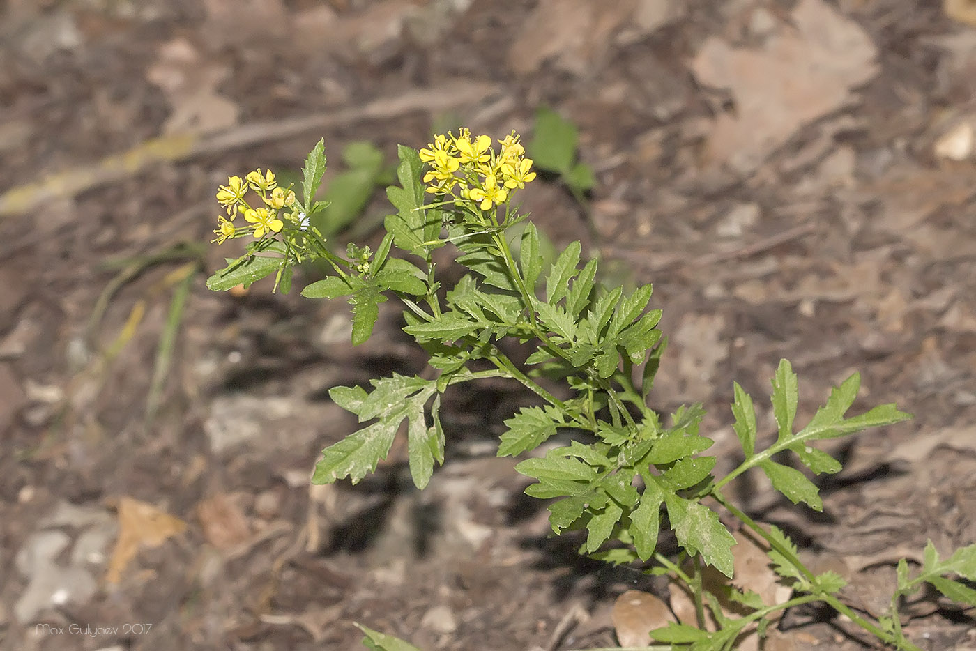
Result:
M369 339L378 305L387 295L395 296L404 305L403 330L427 351L436 371L433 379L376 379L370 390L332 388L331 398L366 425L323 451L313 482L346 477L359 481L386 457L406 421L410 471L414 483L423 488L434 467L444 461L441 394L454 385L505 378L534 393L537 404L522 407L505 422L500 456L532 452L559 430L584 432L590 441L549 446L545 455L531 455L516 466L536 480L526 489L528 495L552 500L552 531L586 530L581 552L607 561L653 558L694 595L697 626L671 624L651 631L658 641L681 648L731 649L746 632L765 631L775 612L820 601L881 641L916 649L901 629L902 596L929 583L951 598L976 604L976 590L947 578L976 581L976 546L940 560L930 544L915 576L902 561L889 612L871 620L838 596L844 585L838 575L814 574L786 534L760 526L736 508L723 489L735 477L758 468L794 504L822 509L816 484L777 455L793 453L813 474L837 472L840 463L814 447L814 441L897 423L909 415L887 404L846 416L860 385L854 374L834 388L808 424L795 427L797 380L783 360L772 381L775 442L758 449L752 398L734 385L734 429L744 461L728 474L714 476L716 458L704 454L713 441L699 432L702 406L681 407L666 420L647 405L665 349L657 329L661 311L648 309L651 286L630 294L620 287L602 287L596 281L596 261L581 263L579 242L545 268L540 235L531 223L524 225L517 241L509 237L509 228L525 220L512 198L535 180L536 173L517 134L498 144L496 149L488 136L462 130L457 136L435 136L420 151L401 145L400 184L387 189L397 212L386 217L386 234L375 252L350 244L345 258L332 253L308 221L324 208L314 201L325 170L323 142L305 160L301 196L290 187L277 186L274 175L261 170L244 180L230 177L218 191L226 217L219 218L215 241L248 235L254 239L244 256L228 259L227 267L208 280L211 289L247 286L276 273L275 286L287 292L295 264L325 260L335 273L306 285L302 294L346 297L352 305L353 344ZM246 201L249 189L258 193L263 205L255 208ZM249 225L234 224L238 213ZM460 252L457 264L468 269L451 287L442 286L432 255L448 245ZM390 255L394 249L404 257ZM516 364L498 346L507 338L533 348L524 364ZM544 379L568 387L570 397L556 397ZM701 571L710 565L731 578L736 540L715 508L726 509L765 541L769 565L793 591L792 598L769 605L754 592L725 586L723 599L738 603L745 614L735 617L720 607L716 595L705 588ZM658 551L663 523L691 561L691 570ZM717 626L706 625L707 611ZM373 648L386 648L382 639L388 636L363 630Z

